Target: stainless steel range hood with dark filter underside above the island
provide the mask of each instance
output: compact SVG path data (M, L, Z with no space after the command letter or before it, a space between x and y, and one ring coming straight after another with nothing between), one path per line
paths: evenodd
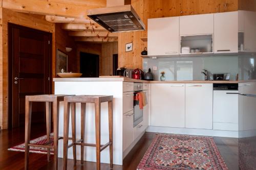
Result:
M88 16L110 32L145 30L145 25L131 5L88 10Z

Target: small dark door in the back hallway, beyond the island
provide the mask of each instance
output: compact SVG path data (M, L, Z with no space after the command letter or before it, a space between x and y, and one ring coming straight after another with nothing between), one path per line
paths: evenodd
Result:
M99 77L99 55L80 52L81 77Z

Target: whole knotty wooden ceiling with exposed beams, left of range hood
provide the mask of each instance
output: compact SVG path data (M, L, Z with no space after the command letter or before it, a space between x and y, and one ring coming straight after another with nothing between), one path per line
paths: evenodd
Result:
M75 41L114 42L117 33L110 33L87 16L87 10L106 7L106 0L3 0L3 8L17 12L46 15L46 20L61 23L61 28Z

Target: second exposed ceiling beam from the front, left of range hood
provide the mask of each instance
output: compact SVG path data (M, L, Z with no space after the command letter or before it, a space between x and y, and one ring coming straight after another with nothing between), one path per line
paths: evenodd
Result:
M68 31L106 31L97 23L62 23L61 28Z

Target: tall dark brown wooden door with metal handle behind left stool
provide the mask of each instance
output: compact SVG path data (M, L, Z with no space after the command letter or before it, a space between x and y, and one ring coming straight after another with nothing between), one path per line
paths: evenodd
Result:
M9 23L9 127L25 124L25 96L50 94L51 33ZM44 103L32 104L32 123L45 122Z

